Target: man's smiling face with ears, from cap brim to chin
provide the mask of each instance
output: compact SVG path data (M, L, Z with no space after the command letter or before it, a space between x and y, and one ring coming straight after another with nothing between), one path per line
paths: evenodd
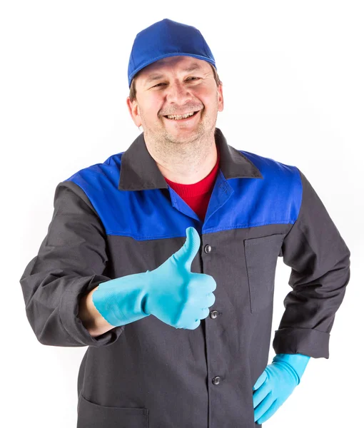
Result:
M215 130L218 111L223 111L223 91L207 61L163 58L143 68L135 83L136 100L131 103L128 98L128 108L146 137L183 143Z

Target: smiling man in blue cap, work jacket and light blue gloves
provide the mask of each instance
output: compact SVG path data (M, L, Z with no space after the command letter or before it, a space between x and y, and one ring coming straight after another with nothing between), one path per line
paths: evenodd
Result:
M141 31L128 83L143 133L57 186L21 277L29 322L44 345L89 346L79 428L260 427L328 358L350 252L298 168L216 128L223 88L197 29ZM292 291L268 364L278 256Z

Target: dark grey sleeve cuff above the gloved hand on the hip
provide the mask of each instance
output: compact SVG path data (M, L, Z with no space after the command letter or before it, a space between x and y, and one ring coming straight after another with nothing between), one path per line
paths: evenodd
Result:
M302 354L313 358L328 358L330 334L309 328L281 328L275 330L275 354Z

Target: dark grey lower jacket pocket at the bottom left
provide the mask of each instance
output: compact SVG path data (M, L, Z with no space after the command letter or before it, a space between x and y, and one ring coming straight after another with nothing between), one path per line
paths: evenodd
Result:
M148 409L106 407L79 397L77 428L148 428Z

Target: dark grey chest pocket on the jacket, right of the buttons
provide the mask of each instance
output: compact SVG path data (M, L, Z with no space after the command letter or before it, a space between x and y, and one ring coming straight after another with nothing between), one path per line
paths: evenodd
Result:
M244 241L252 313L273 302L275 267L284 237L279 234Z

